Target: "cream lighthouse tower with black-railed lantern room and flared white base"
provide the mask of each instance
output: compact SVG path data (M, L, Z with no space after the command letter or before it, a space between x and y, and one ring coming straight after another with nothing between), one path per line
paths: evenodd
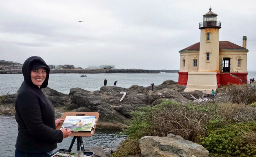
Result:
M198 71L188 72L187 88L184 91L206 90L210 94L216 90L217 72L219 71L219 29L221 22L217 22L217 14L211 11L203 15L201 29Z

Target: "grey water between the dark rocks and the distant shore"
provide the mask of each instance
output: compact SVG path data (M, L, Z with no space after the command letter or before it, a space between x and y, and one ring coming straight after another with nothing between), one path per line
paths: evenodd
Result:
M130 88L132 85L150 86L160 85L166 80L178 81L178 73L158 74L85 74L87 77L80 77L81 74L50 74L48 87L64 94L69 94L71 88L82 88L87 91L97 91L104 85L104 78L107 79L107 86L113 86L118 80L117 86ZM15 94L24 78L22 74L0 74L0 95Z

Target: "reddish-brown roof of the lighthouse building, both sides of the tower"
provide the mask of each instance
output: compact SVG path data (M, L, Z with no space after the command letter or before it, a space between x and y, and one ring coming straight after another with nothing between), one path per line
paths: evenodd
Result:
M179 52L182 52L182 51L199 51L199 49L200 49L200 42L195 43L194 45L188 46L187 48L182 49ZM229 41L220 42L220 49L244 49L244 50L247 50L246 48L244 48L242 46L239 46L239 45L236 45L234 43L231 43Z

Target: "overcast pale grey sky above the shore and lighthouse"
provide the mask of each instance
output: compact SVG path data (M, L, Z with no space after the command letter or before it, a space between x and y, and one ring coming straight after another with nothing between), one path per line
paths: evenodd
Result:
M0 60L179 70L179 51L200 41L212 8L220 41L242 46L255 71L255 0L0 0ZM78 22L78 21L83 22Z

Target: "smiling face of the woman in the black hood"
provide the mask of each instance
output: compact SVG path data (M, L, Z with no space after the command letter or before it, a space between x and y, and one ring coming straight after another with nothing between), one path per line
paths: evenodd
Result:
M33 82L34 85L40 86L46 80L46 69L45 68L39 68L36 70L31 70L30 76L31 76L31 81Z

